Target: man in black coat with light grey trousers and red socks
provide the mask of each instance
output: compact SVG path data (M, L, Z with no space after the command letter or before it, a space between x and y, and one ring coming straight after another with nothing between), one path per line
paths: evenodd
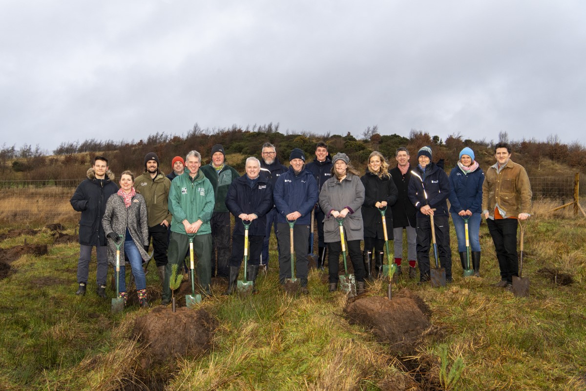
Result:
M397 186L397 202L391 205L393 212L393 237L394 256L398 267L398 274L401 273L401 261L403 260L403 230L407 234L407 260L409 261L409 278L417 277L415 264L417 263L417 209L409 200L408 189L411 181L411 170L409 164L409 151L405 147L399 147L395 151L397 166L389 171L395 186Z

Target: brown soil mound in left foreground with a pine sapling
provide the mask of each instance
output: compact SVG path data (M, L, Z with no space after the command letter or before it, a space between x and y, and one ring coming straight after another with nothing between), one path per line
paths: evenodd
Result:
M148 368L151 363L202 356L212 345L216 327L216 319L205 310L181 307L173 313L171 307L159 306L137 318L132 335L145 346L148 359L141 364Z

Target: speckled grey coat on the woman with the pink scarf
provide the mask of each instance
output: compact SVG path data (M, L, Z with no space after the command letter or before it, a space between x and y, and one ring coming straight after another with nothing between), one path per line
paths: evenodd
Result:
M137 193L132 197L132 203L128 208L124 205L121 196L111 195L106 203L102 225L106 235L115 232L122 237L122 243L126 239L126 228L128 227L132 242L137 245L142 259L148 260L149 256L144 249L144 246L148 244L147 203L142 195ZM116 246L112 239L108 239L108 262L116 264ZM124 244L120 246L120 263L124 263Z

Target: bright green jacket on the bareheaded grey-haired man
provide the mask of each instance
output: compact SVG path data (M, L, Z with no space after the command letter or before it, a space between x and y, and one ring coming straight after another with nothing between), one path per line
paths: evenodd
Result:
M183 220L187 219L189 223L202 220L203 224L197 231L197 235L212 233L210 219L212 219L213 210L214 189L201 169L197 171L193 180L188 170L173 179L169 191L169 212L173 215L172 232L185 234Z

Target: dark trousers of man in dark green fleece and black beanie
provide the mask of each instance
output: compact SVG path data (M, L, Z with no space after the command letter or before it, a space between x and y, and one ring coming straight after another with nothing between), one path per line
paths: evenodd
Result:
M227 279L230 260L230 212L214 212L210 225L212 226L212 277Z

